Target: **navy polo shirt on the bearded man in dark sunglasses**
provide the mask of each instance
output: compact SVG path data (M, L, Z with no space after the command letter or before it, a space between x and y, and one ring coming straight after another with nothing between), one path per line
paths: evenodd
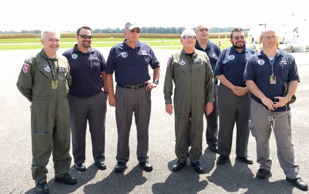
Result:
M98 93L103 87L101 72L105 71L105 59L102 53L89 47L83 53L77 49L77 44L62 53L68 60L72 84L69 94L80 98L89 98Z

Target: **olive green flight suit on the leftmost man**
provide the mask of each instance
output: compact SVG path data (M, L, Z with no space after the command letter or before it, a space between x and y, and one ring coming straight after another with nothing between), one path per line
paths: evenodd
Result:
M52 80L57 88L51 89ZM71 157L69 107L66 95L71 82L67 59L50 59L42 49L27 58L17 80L17 88L31 102L32 178L46 181L46 165L52 153L54 174L62 178Z

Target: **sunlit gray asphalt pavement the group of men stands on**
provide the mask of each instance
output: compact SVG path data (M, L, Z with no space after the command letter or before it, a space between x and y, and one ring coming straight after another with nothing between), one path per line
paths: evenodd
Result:
M109 48L98 48L105 58ZM65 49L59 49L61 54ZM218 155L206 149L203 133L203 153L200 159L204 174L197 174L187 160L179 172L172 172L174 155L174 117L165 113L163 83L167 58L176 50L153 49L161 63L158 87L152 91L152 111L149 127L149 159L153 164L152 172L144 172L136 159L136 128L134 122L130 134L130 160L124 173L116 174L116 124L114 108L107 108L105 161L107 169L100 171L93 163L91 140L86 134L87 170L77 172L73 162L69 174L77 178L73 186L54 182L52 158L47 165L47 183L50 194L304 194L285 181L278 164L273 134L270 138L270 155L273 160L271 177L260 180L255 178L259 169L256 163L255 140L250 135L248 155L253 165L236 159L233 142L230 160L216 165ZM23 61L39 50L0 51L0 194L34 194L34 181L31 177L31 139L30 139L30 102L16 88L16 81ZM296 91L297 100L291 105L293 144L296 163L300 166L301 178L309 183L308 165L308 112L309 112L309 55L292 53L295 56L300 74ZM205 121L205 120L204 120ZM204 122L204 129L205 129ZM234 133L235 135L235 133ZM235 137L233 137L233 140ZM71 154L71 151L70 151Z

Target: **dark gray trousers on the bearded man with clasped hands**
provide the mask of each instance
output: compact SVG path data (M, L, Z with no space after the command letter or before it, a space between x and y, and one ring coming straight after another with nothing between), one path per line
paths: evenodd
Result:
M250 134L248 127L250 101L250 92L247 92L244 96L237 96L232 90L220 84L218 90L220 116L217 151L219 155L230 155L233 128L236 123L236 155L240 157L247 156Z

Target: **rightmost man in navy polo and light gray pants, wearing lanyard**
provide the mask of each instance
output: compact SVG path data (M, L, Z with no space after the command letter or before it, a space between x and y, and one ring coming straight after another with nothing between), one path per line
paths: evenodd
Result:
M243 75L252 92L250 131L256 141L256 161L259 164L256 177L266 179L270 174L269 137L273 130L278 161L286 181L305 190L308 186L300 179L291 142L289 102L300 80L295 59L277 47L277 35L273 29L263 30L259 40L263 49L248 59ZM289 82L286 95L283 94L284 82Z

